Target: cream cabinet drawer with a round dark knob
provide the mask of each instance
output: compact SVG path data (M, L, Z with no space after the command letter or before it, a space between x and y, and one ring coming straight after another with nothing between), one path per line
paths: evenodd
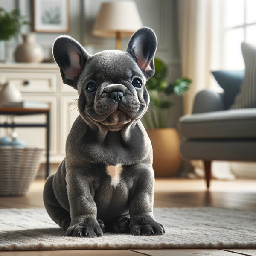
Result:
M20 92L55 92L56 73L1 72L1 82L13 81Z

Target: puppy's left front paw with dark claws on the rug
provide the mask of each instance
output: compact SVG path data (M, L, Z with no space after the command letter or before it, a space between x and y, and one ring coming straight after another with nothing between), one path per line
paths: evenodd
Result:
M103 236L103 232L98 223L91 226L76 224L67 229L66 236L97 237Z

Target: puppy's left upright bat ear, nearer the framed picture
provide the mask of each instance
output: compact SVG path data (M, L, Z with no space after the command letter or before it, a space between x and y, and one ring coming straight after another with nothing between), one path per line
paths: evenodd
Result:
M65 35L54 41L52 54L60 67L64 84L77 89L76 81L88 58L88 53L78 41Z

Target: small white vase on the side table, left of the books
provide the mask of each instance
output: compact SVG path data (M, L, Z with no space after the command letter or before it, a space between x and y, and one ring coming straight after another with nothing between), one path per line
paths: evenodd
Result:
M2 85L2 90L0 91L0 105L3 102L21 102L22 95L20 91L16 88L15 83L12 81L7 82Z

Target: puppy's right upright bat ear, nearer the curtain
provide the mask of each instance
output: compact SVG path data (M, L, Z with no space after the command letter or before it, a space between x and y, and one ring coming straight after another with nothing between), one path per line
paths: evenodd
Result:
M127 52L147 79L154 75L154 55L157 50L157 36L150 28L144 27L137 30L128 43Z

